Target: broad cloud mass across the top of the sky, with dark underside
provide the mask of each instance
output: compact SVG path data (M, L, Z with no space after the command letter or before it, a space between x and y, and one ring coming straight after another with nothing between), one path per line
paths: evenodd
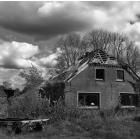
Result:
M37 40L94 28L129 35L127 24L130 21L139 24L139 6L140 2L132 1L0 2L0 26ZM129 31L132 30L130 27Z

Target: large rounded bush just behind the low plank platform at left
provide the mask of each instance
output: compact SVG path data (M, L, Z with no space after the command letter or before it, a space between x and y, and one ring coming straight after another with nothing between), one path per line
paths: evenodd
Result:
M49 110L48 100L39 98L36 92L30 90L25 95L11 99L8 114L16 118L38 118L45 115L46 110Z

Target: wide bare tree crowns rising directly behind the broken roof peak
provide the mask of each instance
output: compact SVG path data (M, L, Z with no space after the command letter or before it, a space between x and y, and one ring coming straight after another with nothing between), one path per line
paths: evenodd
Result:
M126 39L125 35L98 29L87 33L83 37L82 44L86 46L86 50L101 49L118 58L124 49Z

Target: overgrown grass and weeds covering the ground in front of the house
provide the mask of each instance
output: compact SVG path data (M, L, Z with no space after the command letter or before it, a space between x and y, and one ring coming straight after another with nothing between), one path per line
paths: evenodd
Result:
M140 138L140 122L134 121L140 110L80 110L68 108L60 99L44 107L41 114L49 117L42 132L21 133L11 138ZM40 115L41 115L40 114ZM8 136L7 136L8 137ZM6 137L6 138L7 138Z

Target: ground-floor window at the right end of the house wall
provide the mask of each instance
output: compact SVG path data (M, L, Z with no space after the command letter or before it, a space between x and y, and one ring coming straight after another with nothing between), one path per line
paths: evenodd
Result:
M138 94L120 93L120 103L122 106L137 106Z

